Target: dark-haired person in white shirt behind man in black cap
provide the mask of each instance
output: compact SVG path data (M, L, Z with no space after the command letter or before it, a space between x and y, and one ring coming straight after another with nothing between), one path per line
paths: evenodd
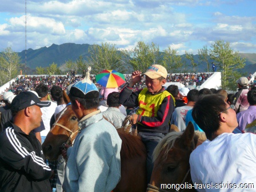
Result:
M35 87L35 92L37 92L38 96L41 97L41 101L48 101L49 100L49 88L47 85L41 83L37 87ZM51 105L49 107L41 107L42 111L42 121L45 125L45 130L41 131L41 138L42 143L45 141L46 135L49 133L51 127L50 127L50 120L51 116L53 116L55 109L57 107L57 103L54 103L52 101Z

